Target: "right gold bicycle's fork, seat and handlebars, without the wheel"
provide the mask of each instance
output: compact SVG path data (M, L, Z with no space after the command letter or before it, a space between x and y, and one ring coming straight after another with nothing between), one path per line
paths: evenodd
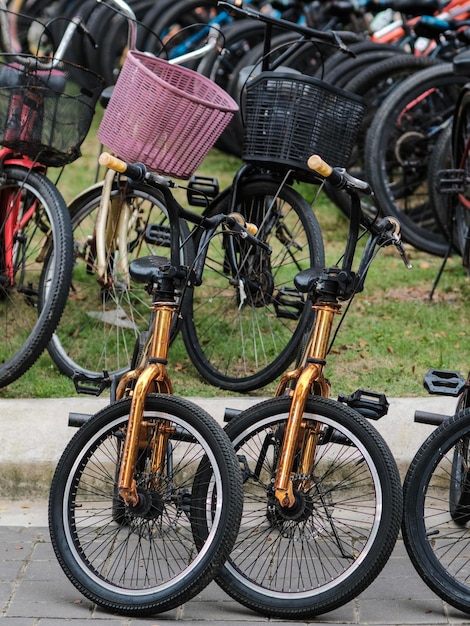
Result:
M331 168L324 168L321 159L315 160L315 157L311 158L310 166L321 175L330 176L335 172ZM299 483L302 485L305 477L311 473L310 468L313 466L320 432L315 427L307 428L302 418L310 394L323 397L328 397L330 394L330 384L323 375L323 368L326 365L334 317L341 314L341 301L350 299L356 292L362 290L376 247L381 243L387 245L383 240L387 229L393 229L388 243L395 243L399 246L403 260L408 268L411 267L404 255L401 243L397 239L398 223L392 218L385 218L383 224L377 228L372 228L373 225L369 224L371 234L362 254L357 274L352 272L359 226L361 222L365 223L365 218L361 216L358 188L354 188L354 179L350 179L349 184L352 186L346 188L351 196L351 219L341 269L332 267L319 272L318 268L312 268L299 275L303 275L304 280L299 280L297 277L297 287L301 291L309 293L316 317L310 339L300 359L300 365L281 378L276 391L276 396L284 395L288 392L288 385L294 383L293 391L289 392L292 396L292 403L274 482L274 495L281 507L291 508L295 505L294 485ZM362 191L367 190L363 187ZM294 474L292 468L294 457L298 452L300 452L300 458L297 471Z

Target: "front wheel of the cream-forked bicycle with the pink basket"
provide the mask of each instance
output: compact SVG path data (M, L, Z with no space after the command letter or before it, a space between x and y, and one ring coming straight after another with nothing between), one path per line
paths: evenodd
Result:
M49 354L66 376L99 378L106 371L119 376L129 368L136 339L149 323L151 299L145 285L131 283L119 263L115 237L107 244L110 281L98 283L95 263L95 223L102 183L78 196L70 205L75 262L72 287ZM161 194L148 185L114 183L111 202L116 215L130 209L127 230L128 261L147 256L170 256L170 226ZM192 258L189 229L180 222L181 261Z

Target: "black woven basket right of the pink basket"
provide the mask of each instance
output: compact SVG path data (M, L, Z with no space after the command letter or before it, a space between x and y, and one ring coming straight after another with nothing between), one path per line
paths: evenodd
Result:
M346 167L365 107L360 96L316 78L262 72L245 87L243 159L306 179L312 154Z

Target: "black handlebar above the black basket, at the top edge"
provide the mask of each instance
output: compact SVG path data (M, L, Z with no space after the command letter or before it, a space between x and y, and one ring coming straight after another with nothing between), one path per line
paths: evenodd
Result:
M356 33L349 31L339 32L334 30L317 30L316 28L310 28L309 26L289 22L288 20L284 20L282 18L272 17L265 13L256 11L251 6L245 5L243 0L219 0L217 4L218 6L225 7L228 11L244 15L250 19L259 20L260 22L270 24L276 28L281 28L287 31L295 31L299 33L299 35L303 35L308 39L317 39L325 43L330 43L338 47L340 50L348 53L349 50L345 46L345 43L356 43L363 39Z

